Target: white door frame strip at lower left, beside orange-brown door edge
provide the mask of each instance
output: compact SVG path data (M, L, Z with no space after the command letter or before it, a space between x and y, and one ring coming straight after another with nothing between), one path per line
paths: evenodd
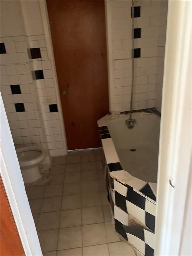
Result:
M11 130L0 94L1 141L0 174L25 255L42 255L37 230L29 206Z

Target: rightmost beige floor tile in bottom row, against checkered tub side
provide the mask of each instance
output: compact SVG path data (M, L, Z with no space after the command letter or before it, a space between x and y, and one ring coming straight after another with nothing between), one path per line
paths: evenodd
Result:
M135 256L134 250L126 242L109 243L110 256Z

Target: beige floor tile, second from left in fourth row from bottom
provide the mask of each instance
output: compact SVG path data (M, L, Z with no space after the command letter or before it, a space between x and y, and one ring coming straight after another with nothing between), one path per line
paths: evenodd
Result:
M54 212L61 210L61 199L62 197L49 197L44 198L41 212Z

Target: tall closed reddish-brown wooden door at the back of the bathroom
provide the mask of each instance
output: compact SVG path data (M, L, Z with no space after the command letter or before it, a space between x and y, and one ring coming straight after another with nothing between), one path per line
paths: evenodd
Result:
M68 149L100 147L97 120L109 108L104 1L47 8Z

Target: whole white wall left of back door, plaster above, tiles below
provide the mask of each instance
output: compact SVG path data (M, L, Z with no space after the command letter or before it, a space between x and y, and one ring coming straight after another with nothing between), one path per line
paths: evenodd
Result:
M1 42L6 53L0 56L1 94L15 146L42 146L51 156L64 155L62 111L56 94L57 81L53 79L54 63L47 54L39 1L2 2ZM41 58L30 59L30 48L39 48ZM44 79L33 80L34 70L42 70ZM12 94L10 85L19 85L21 94ZM25 111L16 112L15 103L23 103ZM50 112L49 104L57 104L58 112Z

